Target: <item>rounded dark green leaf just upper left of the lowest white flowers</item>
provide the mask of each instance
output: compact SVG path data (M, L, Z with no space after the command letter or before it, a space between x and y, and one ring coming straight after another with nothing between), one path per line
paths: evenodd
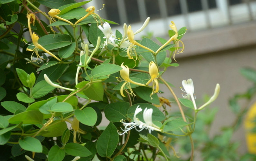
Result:
M107 104L105 107L105 116L109 121L119 122L126 119L127 111L130 107L128 102L114 102Z

